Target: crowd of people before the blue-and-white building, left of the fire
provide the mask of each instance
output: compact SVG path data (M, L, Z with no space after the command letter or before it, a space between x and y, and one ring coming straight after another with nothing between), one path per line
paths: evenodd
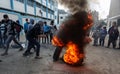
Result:
M9 19L7 14L3 15L3 19L0 21L0 47L4 48L5 51L1 56L8 55L9 46L12 41L20 47L19 51L24 50L20 44L20 32L23 29L27 41L27 49L23 53L23 56L30 55L32 53L31 49L34 49L36 52L35 59L41 58L39 55L40 42L38 35L44 35L44 37L41 36L43 37L42 43L50 43L54 33L57 31L57 27L54 25L53 20L50 25L48 25L46 21L38 21L35 23L34 19L30 19L30 21L26 19L25 21L24 26L22 26L19 20L15 22Z

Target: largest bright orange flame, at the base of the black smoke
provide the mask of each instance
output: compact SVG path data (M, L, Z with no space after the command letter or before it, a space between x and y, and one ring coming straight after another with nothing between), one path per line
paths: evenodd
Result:
M72 42L67 44L67 50L64 54L64 61L68 64L74 65L81 61L84 58L84 53L80 53L80 48Z

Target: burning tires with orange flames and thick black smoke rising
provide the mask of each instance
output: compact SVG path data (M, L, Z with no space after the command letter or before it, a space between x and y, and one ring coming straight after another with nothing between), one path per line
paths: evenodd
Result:
M53 60L57 61L63 47L66 47L66 52L63 56L65 63L70 65L81 65L84 61L84 47L89 43L90 38L87 36L88 30L92 26L92 17L86 11L86 0L59 0L61 3L72 3L66 6L70 8L71 16L60 26L60 29L52 39L56 50L53 55ZM80 2L79 2L80 1ZM73 8L73 9L72 9Z

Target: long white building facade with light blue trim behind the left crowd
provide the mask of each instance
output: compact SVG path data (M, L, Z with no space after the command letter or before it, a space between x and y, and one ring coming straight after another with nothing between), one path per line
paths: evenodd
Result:
M55 21L57 24L58 4L55 0L0 0L0 20L3 14L8 14L10 19L19 20L23 25L25 19L35 21Z

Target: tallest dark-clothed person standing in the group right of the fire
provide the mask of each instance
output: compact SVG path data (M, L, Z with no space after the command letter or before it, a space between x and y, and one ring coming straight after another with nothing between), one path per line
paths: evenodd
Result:
M119 31L118 31L116 22L113 22L112 27L110 27L110 29L108 30L108 34L109 34L109 40L108 40L107 48L109 48L111 43L113 45L113 48L115 48L116 47L116 40L119 36Z

